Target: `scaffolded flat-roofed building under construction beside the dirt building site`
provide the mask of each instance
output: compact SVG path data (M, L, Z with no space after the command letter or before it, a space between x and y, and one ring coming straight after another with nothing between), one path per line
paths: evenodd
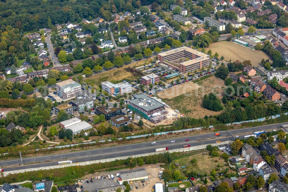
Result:
M166 119L165 105L146 95L134 95L134 99L128 101L128 108L142 115L143 118L158 123Z

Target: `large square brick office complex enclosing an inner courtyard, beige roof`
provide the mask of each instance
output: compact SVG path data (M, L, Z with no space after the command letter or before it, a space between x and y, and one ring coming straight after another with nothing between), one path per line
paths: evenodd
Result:
M183 73L208 67L210 64L209 55L186 46L158 53L157 58L160 62Z

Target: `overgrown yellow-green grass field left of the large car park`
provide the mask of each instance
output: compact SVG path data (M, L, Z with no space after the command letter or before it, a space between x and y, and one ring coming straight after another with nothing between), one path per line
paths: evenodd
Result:
M110 81L111 83L119 83L122 80L126 80L128 82L131 82L141 77L141 76L136 76L134 73L131 73L130 71L126 71L125 69L127 67L130 67L130 66L111 69L109 71L105 71L103 73L96 74L95 76L86 78L85 81L90 85L92 84L98 85L104 81Z

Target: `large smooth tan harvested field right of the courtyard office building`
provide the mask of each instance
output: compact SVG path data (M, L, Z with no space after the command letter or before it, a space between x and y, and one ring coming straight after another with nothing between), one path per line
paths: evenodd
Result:
M230 59L232 62L236 60L251 60L252 66L254 67L258 67L261 59L263 58L265 60L269 59L270 62L273 61L272 58L264 51L253 51L251 49L228 41L212 43L208 48L206 48L206 51L208 51L209 49L211 49L212 54L215 54L215 52L217 52L219 54L219 57L223 55L225 57L224 60L226 61L229 61Z

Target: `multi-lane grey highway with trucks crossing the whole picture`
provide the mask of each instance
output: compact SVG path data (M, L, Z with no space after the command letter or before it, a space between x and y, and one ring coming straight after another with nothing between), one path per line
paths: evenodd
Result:
M242 129L231 129L229 131L219 131L221 137L216 137L215 133L206 133L201 135L193 135L182 138L175 139L167 139L167 140L158 140L156 143L152 144L151 142L138 143L138 144L130 144L130 145L120 145L113 146L107 148L98 148L92 150L84 150L78 152L70 152L70 153L61 153L55 155L47 155L47 156L39 156L39 157L29 157L23 158L22 162L24 165L21 165L20 159L11 159L7 161L0 161L0 166L4 169L4 171L11 170L19 170L25 168L35 168L35 167L43 167L50 165L58 165L58 161L63 160L71 160L73 163L75 162L83 162L83 161L92 161L92 160L100 160L107 159L113 157L122 157L129 155L139 155L143 153L151 153L155 152L156 148L168 147L169 149L182 148L183 145L190 144L191 146L203 145L203 144L211 144L216 143L216 141L220 140L228 141L231 140L229 132L239 138L243 138L244 135L248 135L249 133L253 133L253 131L265 131L277 129L280 127L280 124L272 124L272 125L264 125L258 127L249 127ZM185 141L189 139L189 141ZM174 142L171 142L174 141Z

